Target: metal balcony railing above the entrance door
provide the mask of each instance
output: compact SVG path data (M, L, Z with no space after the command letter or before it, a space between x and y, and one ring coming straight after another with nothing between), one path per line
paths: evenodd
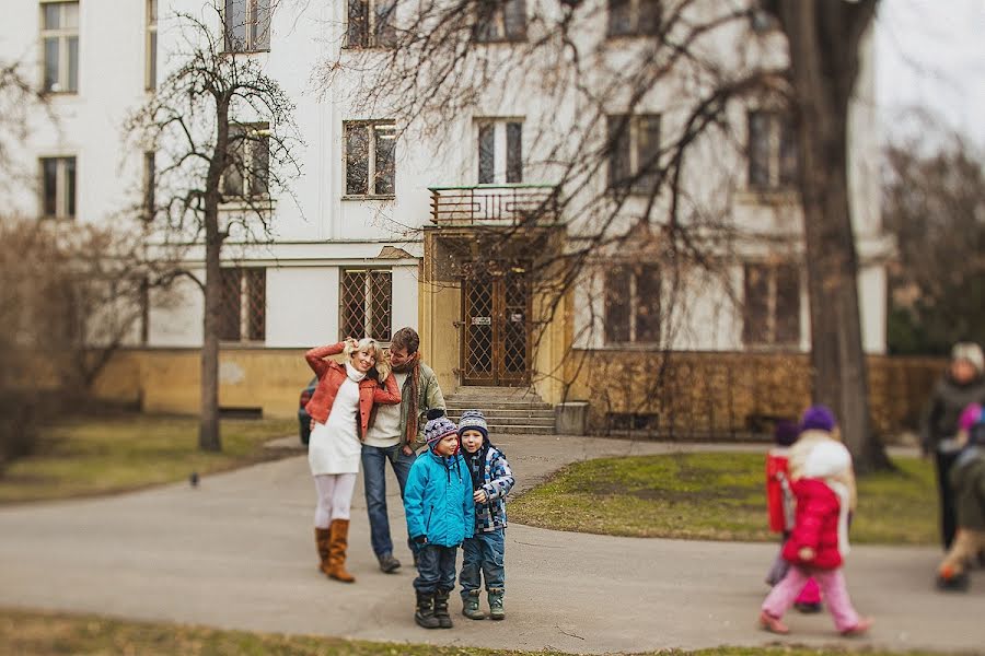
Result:
M429 187L441 226L549 226L559 221L556 185Z

